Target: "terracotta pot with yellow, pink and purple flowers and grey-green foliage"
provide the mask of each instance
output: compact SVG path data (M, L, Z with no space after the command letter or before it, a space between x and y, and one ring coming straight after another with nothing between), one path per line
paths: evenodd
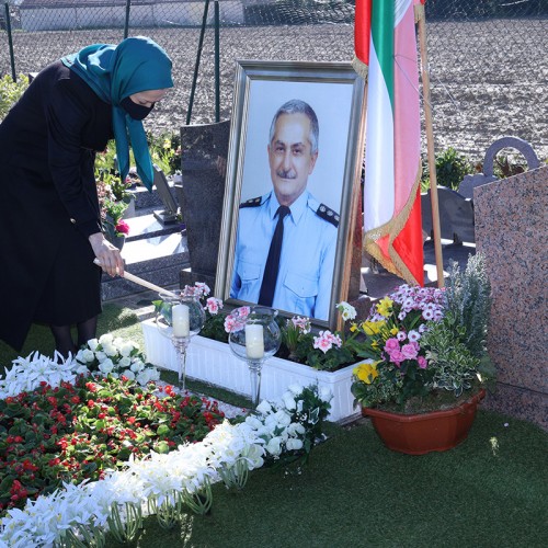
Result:
M481 254L463 272L453 263L444 289L401 285L356 326L365 336L352 393L386 445L423 454L445 450L468 433L483 384L491 307Z

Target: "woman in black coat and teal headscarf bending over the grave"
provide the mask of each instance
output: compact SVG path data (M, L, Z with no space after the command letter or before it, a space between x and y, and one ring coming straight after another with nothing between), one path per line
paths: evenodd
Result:
M150 190L140 119L172 85L171 60L151 39L95 44L39 72L0 124L0 339L14 349L32 322L50 326L64 356L95 336L101 269L124 272L102 233L95 152L114 137L124 180L129 137Z

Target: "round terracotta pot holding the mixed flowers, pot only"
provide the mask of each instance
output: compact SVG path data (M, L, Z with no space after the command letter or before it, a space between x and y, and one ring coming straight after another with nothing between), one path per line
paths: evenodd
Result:
M389 449L424 455L450 449L463 442L468 436L478 403L484 396L486 390L481 389L460 406L445 411L400 414L363 408L362 414L370 416L373 426Z

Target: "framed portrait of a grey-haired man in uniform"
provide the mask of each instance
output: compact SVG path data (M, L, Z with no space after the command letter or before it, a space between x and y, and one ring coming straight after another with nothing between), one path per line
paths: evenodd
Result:
M218 298L335 328L357 215L364 91L350 62L238 61Z

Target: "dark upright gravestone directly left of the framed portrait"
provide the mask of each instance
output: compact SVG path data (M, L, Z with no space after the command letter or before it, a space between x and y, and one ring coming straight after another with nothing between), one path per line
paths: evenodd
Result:
M175 184L186 226L191 269L181 286L215 287L230 121L181 127L182 182Z

